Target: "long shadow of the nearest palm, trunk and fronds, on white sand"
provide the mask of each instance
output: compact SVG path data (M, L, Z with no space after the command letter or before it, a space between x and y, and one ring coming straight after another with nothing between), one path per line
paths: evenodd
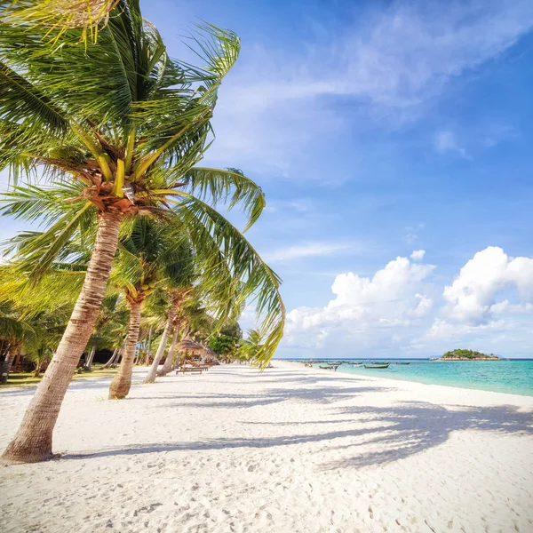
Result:
M258 438L214 438L202 442L153 442L123 448L102 449L76 455L66 455L65 459L87 459L93 457L131 456L145 453L158 453L174 450L210 450L239 448L275 448L295 446L303 443L327 444L327 451L347 449L354 455L322 465L322 469L339 469L384 465L416 455L426 449L446 442L455 431L475 430L497 434L533 434L533 413L524 412L512 405L496 407L445 407L425 402L403 402L394 407L351 407L337 410L338 415L348 418L331 421L309 421L308 424L343 424L343 429L332 428L325 433L287 434ZM346 428L346 423L353 427ZM293 426L292 422L261 423L277 426ZM369 424L370 426L366 426ZM299 424L298 424L299 425ZM304 426L304 424L302 424ZM346 438L355 442L346 442ZM345 440L341 442L341 440ZM338 444L335 444L338 441ZM360 452L375 444L375 452ZM384 450L384 446L386 449ZM324 451L316 449L312 451Z

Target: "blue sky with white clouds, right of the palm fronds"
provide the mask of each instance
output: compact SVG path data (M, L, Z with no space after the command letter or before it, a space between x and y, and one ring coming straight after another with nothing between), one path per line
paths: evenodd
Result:
M180 59L197 19L242 38L204 163L266 192L279 355L533 356L533 3L141 5Z

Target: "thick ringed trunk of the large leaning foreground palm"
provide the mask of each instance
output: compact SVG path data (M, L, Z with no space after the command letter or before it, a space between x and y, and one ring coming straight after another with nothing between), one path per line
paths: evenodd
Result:
M17 434L4 451L6 461L36 463L52 457L52 432L76 365L91 337L104 298L116 247L121 211L109 208L99 221L84 285L60 346L37 386Z

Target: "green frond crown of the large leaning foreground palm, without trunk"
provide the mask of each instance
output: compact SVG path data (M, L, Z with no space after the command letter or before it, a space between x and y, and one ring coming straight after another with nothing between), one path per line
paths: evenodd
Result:
M187 234L213 296L218 290L228 303L233 294L234 307L255 298L267 361L282 337L280 279L213 207L239 205L248 228L263 192L238 169L195 166L211 144L217 92L239 38L199 26L191 36L204 60L198 68L171 59L136 0L114 3L96 44L83 42L84 28L34 22L0 21L0 170L9 168L15 185L24 174L50 184L6 195L5 214L46 226L15 239L20 268L32 279L63 262L76 270L73 258L86 258L94 221L107 210L163 218Z

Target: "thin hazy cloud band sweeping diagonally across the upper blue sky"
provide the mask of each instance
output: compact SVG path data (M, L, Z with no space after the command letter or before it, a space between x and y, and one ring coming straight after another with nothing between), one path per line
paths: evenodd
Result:
M344 32L318 23L320 39L295 47L292 54L258 47L243 52L220 92L219 135L210 158L228 164L253 161L257 170L284 174L301 147L314 143L320 153L327 139L352 121L371 116L390 124L392 116L417 116L451 80L473 72L529 32L533 3L403 1L346 20ZM306 52L298 52L302 49ZM330 97L361 106L339 114ZM466 155L450 142L449 133L442 132L439 146Z

